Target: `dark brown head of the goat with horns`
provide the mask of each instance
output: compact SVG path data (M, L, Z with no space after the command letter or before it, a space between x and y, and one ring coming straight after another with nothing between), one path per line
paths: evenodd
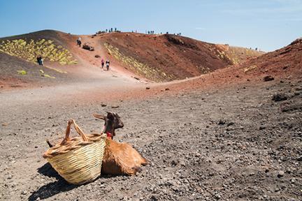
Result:
M93 115L94 117L105 121L102 133L110 133L112 138L115 136L115 129L124 127L124 123L120 119L120 116L115 112L107 112L107 116L101 114Z

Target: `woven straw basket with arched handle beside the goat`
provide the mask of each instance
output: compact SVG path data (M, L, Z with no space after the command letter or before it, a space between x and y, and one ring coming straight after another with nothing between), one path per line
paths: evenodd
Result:
M72 124L80 137L69 138ZM70 120L64 140L45 151L43 157L70 184L85 184L101 175L105 146L106 135L85 135L75 121Z

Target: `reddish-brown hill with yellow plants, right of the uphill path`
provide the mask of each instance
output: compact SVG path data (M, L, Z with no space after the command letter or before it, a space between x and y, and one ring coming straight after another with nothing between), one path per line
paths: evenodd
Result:
M126 68L155 81L182 80L210 73L262 54L171 34L113 33L94 38L100 38L109 54Z

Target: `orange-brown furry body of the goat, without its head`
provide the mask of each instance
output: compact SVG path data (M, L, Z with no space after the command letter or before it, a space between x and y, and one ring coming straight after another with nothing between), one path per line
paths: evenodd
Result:
M103 156L102 174L127 174L134 175L140 172L141 165L147 161L138 154L130 144L115 142L106 139L106 149Z

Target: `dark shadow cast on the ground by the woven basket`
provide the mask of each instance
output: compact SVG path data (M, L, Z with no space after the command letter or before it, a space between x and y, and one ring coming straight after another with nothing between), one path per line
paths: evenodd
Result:
M50 198L58 193L71 191L73 188L78 187L76 185L67 183L67 181L59 176L59 174L52 168L50 163L45 163L41 168L38 168L38 172L45 175L46 177L55 177L57 181L41 186L37 191L31 193L28 200L43 200Z

